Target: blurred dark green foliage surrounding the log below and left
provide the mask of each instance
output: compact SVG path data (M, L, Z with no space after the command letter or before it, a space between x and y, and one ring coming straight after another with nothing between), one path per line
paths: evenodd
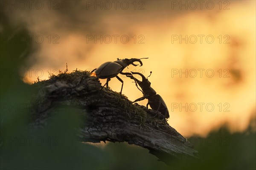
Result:
M0 16L1 35L28 34L23 27L12 28L4 14ZM75 129L81 119L71 108L59 108L44 129L27 129L30 97L36 91L15 71L33 48L29 43L0 43L1 169L256 169L255 127L231 134L224 126L205 138L190 137L201 159L175 161L172 166L134 145L108 143L98 147L78 142Z

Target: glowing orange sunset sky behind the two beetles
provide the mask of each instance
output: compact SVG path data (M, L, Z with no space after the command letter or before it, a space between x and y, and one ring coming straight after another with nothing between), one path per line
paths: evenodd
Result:
M12 11L14 24L23 22L31 34L44 37L22 68L41 69L40 79L48 79L47 71L64 71L66 62L71 72L94 69L116 58L149 57L142 60L142 67L130 65L125 71L140 71L146 77L152 71L151 87L168 106L169 124L182 135L205 136L224 123L233 132L247 128L256 113L256 2L231 0L220 6L214 1L212 9L204 4L202 9L192 9L193 4L186 9L172 1L152 0L137 2L135 10L128 2L127 10L67 1L58 10ZM138 10L139 6L144 9ZM95 35L102 35L102 43L95 43ZM129 38L127 43L122 36ZM142 96L131 79L121 78L128 99ZM36 79L32 71L23 81ZM109 86L121 89L116 78ZM147 100L140 103L146 105Z

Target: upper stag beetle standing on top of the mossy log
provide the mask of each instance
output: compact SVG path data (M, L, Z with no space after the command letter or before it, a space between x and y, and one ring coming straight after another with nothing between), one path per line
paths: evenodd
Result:
M141 58L141 59L148 59L148 58ZM97 78L107 79L107 82L105 83L105 85L107 85L107 87L108 87L108 82L113 77L116 77L120 82L122 82L122 87L123 87L124 82L117 75L118 74L130 75L130 77L132 78L133 76L131 73L122 73L122 71L123 71L123 69L125 69L125 67L127 67L130 64L137 66L137 64L134 64L134 62L140 62L140 66L143 65L143 63L140 59L135 59L135 58L119 59L119 58L117 58L117 60L114 62L109 61L109 62L103 63L98 68L95 68L93 71L95 71ZM91 73L93 73L93 71L91 71ZM103 85L102 88L105 85ZM122 87L121 87L120 94L122 94Z

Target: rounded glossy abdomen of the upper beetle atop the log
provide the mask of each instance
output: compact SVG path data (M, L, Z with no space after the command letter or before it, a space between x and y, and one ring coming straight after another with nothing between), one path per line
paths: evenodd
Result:
M96 69L96 76L100 79L116 77L122 70L122 65L116 62L105 62Z

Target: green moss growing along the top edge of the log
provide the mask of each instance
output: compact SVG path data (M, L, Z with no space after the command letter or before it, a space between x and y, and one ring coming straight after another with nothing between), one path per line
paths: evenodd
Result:
M64 73L60 72L58 75L52 74L48 80L35 82L34 85L44 87L59 81L65 82L65 84L72 84L76 86L82 79L88 79L88 81L90 80L94 82L98 81L96 77L91 75L92 74L89 71L76 70L71 73L64 71ZM99 81L96 82L96 84L99 84L100 86ZM120 95L119 93L112 91L109 88L103 88L102 90L100 89L101 88L96 89L97 95L99 95L98 98L100 98L100 96L108 96L108 102L111 102L113 105L121 108L124 111L123 114L126 116L128 121L137 120L140 125L143 125L145 122L153 122L152 124L162 124L164 122L163 119L159 119L159 116L154 116L157 114L159 115L159 113L154 113L154 111L148 110L144 106L132 104L132 102L128 100L127 96L124 94ZM47 96L47 94L44 95Z

